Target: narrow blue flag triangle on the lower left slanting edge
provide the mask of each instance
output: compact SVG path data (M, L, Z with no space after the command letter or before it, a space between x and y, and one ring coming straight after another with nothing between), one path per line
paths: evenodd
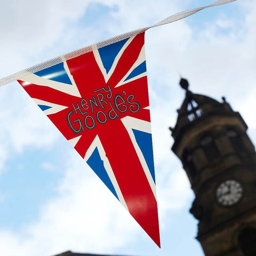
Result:
M91 169L98 175L98 177L105 183L105 185L109 188L109 190L115 195L118 199L116 194L116 190L108 176L108 173L103 165L103 161L100 158L98 148L95 148L90 158L87 160L87 164L91 167ZM118 199L119 200L119 199Z

